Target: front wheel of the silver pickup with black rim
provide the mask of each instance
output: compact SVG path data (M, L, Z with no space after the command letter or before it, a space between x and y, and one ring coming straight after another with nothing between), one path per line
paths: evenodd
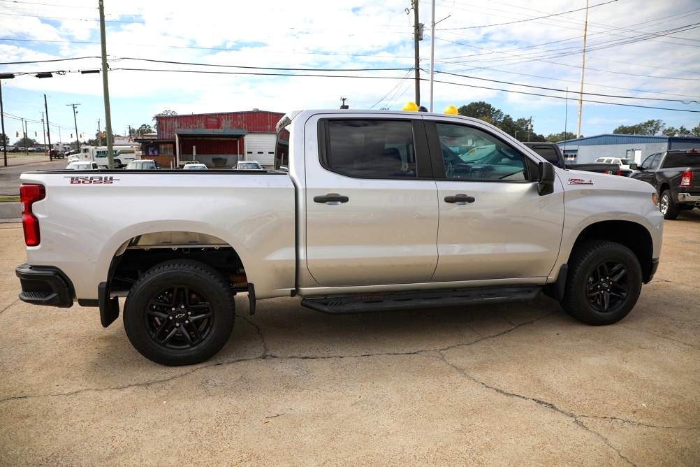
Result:
M575 247L568 262L561 307L594 326L617 323L637 302L642 268L624 245L593 240Z

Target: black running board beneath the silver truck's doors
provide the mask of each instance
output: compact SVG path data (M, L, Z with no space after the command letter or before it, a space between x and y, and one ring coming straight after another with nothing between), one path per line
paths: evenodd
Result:
M329 295L304 298L302 306L330 314L365 313L391 309L477 305L489 302L521 302L532 300L541 290L541 286L526 286Z

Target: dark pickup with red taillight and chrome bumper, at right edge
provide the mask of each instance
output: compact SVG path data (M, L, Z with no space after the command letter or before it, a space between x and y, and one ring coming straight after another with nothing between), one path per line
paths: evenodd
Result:
M654 153L631 164L633 179L649 182L659 196L664 219L678 217L681 209L700 208L700 151L696 149Z

